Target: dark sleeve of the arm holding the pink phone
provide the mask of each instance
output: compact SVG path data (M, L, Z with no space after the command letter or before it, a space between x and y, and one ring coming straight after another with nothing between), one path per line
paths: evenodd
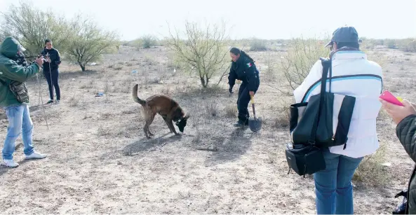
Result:
M416 115L401 120L396 127L396 135L410 158L416 162Z

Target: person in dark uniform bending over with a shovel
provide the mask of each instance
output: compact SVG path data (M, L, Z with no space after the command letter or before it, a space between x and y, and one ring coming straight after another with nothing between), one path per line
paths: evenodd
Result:
M237 108L239 110L239 121L235 127L244 127L248 125L248 103L250 96L254 96L260 85L259 71L256 69L254 60L244 51L238 48L229 50L232 58L231 69L229 70L228 83L229 92L233 93L232 88L236 80L242 81L239 88L239 97L237 99Z

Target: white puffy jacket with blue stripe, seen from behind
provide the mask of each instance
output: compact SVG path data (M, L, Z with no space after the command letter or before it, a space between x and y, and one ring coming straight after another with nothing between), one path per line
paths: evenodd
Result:
M333 54L331 92L356 97L356 104L348 132L347 144L330 147L331 153L361 158L375 153L379 147L376 118L380 111L378 97L382 93L382 68L367 60L358 50L338 51ZM321 60L311 68L307 78L295 89L296 103L307 102L319 94L322 76ZM326 90L329 90L329 83Z

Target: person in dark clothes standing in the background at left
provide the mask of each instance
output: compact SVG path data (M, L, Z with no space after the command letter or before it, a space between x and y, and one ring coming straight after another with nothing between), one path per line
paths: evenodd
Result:
M45 76L46 81L48 81L49 96L51 98L46 104L53 103L53 88L55 88L56 92L55 104L59 104L60 88L58 83L58 69L61 61L59 52L52 47L52 41L50 39L45 40L45 48L42 50L41 55L43 55L43 57L46 59L46 62L43 63L43 75Z

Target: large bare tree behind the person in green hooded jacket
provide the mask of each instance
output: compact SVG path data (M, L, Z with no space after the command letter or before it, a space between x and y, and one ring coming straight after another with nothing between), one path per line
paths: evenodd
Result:
M63 17L58 17L51 11L39 11L26 2L20 2L20 6L11 6L1 15L4 22L0 33L18 39L32 55L43 49L45 39L51 39L59 49L65 46L69 36Z

